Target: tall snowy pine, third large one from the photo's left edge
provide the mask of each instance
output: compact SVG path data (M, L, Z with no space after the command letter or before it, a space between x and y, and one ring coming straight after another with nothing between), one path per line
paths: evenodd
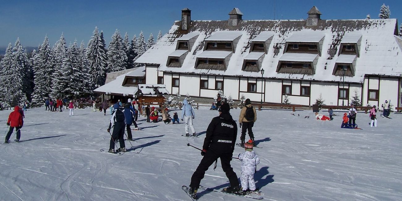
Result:
M66 70L63 66L63 60L66 58L66 39L64 39L64 33L60 36L60 39L55 43L51 50L51 61L53 65L53 74L51 78L51 97L52 98L64 98L66 96L65 89L67 87L68 78L64 73Z

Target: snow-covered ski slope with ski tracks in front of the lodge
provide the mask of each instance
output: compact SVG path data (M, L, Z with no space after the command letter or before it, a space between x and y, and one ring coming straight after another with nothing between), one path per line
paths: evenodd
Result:
M2 134L9 112L0 111ZM29 109L21 129L23 142L0 145L0 200L189 200L181 186L189 185L201 155L187 143L201 148L217 111L200 107L195 113L199 137L181 136L184 123L146 123L140 117L142 130L133 131L135 150L117 156L100 152L109 148L110 115L80 109L69 117L67 111ZM240 110L231 113L237 120ZM363 130L357 130L340 128L343 112L335 112L334 121L315 120L311 111L291 113L257 112L253 131L262 148L254 149L261 160L254 178L265 200L401 199L402 115L379 118L379 127L371 128L368 115L358 113ZM234 156L242 151L236 146ZM232 167L240 177L240 162L234 159ZM201 185L229 185L220 163L215 171L209 168ZM246 199L199 191L200 201Z

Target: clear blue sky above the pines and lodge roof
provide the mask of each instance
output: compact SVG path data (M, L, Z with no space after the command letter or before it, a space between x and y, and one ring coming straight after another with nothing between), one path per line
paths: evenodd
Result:
M192 10L192 20L227 20L234 7L246 20L274 19L274 10L275 19L305 19L312 6L322 19L363 19L367 14L376 19L383 3L390 6L391 18L401 18L400 0L0 0L0 47L17 37L24 46L36 47L46 34L53 45L62 32L67 43L87 43L95 26L104 31L107 44L116 29L128 32L130 39L144 31L148 39L150 33L166 33L185 7Z

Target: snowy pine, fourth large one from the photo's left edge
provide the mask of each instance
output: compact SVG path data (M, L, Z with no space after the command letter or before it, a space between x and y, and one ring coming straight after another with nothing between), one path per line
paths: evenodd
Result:
M68 47L66 57L63 59L64 78L66 80L66 96L70 99L78 98L84 90L84 82L82 79L82 61L80 60L80 50L78 49L77 41L74 41Z

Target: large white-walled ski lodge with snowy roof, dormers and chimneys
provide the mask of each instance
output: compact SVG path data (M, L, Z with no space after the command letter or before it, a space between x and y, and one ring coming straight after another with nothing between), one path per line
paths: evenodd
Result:
M306 20L191 21L182 10L156 45L135 62L146 84L170 94L213 98L218 90L239 100L312 105L363 105L391 100L400 107L402 38L396 19L322 20L313 6ZM263 74L262 74L263 72Z

